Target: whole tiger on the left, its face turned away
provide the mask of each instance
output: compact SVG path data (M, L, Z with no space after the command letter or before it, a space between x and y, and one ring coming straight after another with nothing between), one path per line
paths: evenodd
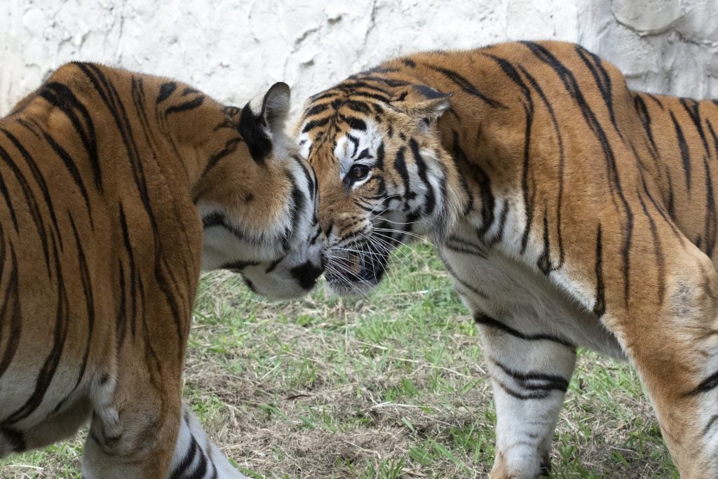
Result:
M275 298L322 274L289 103L71 62L0 119L0 457L89 422L85 478L243 477L182 366L200 271Z

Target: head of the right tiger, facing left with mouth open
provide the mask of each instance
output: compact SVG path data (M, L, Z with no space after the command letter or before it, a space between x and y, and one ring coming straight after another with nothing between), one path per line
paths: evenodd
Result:
M307 101L297 142L317 172L335 292L365 294L393 248L424 235L441 243L452 228L459 180L437 128L449 97L360 74Z

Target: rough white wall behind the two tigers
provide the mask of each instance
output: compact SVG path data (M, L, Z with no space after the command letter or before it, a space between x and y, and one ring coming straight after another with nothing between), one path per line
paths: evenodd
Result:
M718 96L718 0L0 0L0 115L62 62L167 75L243 104L306 96L388 57L579 41L634 88Z

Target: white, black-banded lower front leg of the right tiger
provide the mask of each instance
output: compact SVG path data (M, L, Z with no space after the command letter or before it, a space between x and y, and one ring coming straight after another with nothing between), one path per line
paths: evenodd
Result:
M496 404L492 479L535 478L551 470L549 453L576 363L572 344L533 318L475 314Z

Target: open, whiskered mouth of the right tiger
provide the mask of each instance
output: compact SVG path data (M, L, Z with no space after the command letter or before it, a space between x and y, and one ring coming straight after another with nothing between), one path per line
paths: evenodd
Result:
M330 287L339 294L365 292L375 287L386 272L388 251L371 246L369 243L357 243L350 251L332 251L325 279Z

